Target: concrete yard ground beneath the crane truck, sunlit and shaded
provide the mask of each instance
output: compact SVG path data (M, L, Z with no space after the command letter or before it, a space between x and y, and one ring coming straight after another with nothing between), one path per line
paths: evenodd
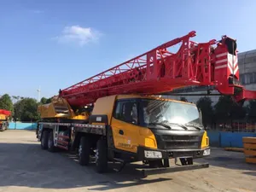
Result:
M256 191L256 165L242 153L212 148L210 168L141 177L135 165L97 174L72 154L41 150L34 131L0 132L0 191Z

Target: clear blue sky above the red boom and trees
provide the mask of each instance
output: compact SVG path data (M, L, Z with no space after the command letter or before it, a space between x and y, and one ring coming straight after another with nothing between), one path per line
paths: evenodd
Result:
M194 30L197 42L226 34L256 49L255 10L255 0L3 0L0 95L53 96Z

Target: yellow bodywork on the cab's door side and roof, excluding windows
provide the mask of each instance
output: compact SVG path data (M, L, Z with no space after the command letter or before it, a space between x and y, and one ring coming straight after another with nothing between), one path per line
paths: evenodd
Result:
M117 95L117 96L105 96L97 99L92 114L105 114L108 115L108 125L111 125L113 130L113 143L114 147L120 150L125 150L132 153L137 153L137 147L143 146L146 148L157 148L156 139L150 129L131 123L126 123L119 119L112 117L113 108L116 100L120 99L154 99L167 102L182 102L172 99L161 98L160 96L140 96L140 95ZM194 103L182 102L188 105L195 105ZM124 134L119 134L119 131L123 131Z

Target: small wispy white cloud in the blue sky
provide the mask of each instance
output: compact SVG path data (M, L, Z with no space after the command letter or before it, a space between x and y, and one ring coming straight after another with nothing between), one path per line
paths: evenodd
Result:
M98 32L90 27L82 26L66 26L61 35L56 37L59 43L74 43L84 46L90 42L95 43L102 36L101 32Z

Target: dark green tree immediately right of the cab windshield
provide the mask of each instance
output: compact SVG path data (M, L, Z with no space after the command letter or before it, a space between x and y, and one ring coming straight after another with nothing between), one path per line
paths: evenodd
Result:
M211 98L207 96L201 97L196 102L196 106L201 109L203 125L212 125L213 108Z

